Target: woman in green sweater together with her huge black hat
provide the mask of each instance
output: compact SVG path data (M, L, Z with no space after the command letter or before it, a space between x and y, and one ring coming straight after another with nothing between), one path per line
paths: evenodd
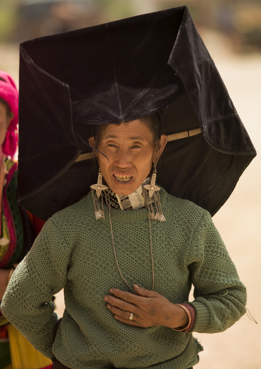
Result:
M4 315L57 368L191 368L245 313L206 209L255 151L188 9L25 42L20 71L18 192L49 219Z

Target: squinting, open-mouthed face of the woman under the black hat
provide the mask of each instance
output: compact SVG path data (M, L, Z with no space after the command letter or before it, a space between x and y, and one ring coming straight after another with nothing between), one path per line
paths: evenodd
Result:
M89 143L95 146L94 137ZM166 143L162 135L155 148L153 134L140 120L127 123L107 124L95 152L99 167L107 185L118 195L128 195L141 185L150 173L152 163L157 161Z

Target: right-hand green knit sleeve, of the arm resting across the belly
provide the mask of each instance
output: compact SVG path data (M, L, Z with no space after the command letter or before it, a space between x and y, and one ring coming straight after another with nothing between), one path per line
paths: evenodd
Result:
M189 257L195 298L190 304L196 311L191 331L224 331L246 312L247 295L208 212L193 235Z

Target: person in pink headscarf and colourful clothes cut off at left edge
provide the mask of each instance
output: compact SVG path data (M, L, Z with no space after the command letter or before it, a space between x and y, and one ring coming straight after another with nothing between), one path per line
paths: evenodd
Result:
M8 73L0 71L0 300L14 269L31 248L42 226L17 204L18 91ZM36 232L35 232L36 230ZM0 310L0 369L50 367L50 360L9 324Z

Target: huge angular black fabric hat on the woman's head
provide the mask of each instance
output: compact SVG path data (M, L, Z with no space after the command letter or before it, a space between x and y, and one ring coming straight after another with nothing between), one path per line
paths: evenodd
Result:
M162 108L157 182L214 215L256 152L187 7L22 43L20 205L46 220L78 201L97 181L78 135Z

